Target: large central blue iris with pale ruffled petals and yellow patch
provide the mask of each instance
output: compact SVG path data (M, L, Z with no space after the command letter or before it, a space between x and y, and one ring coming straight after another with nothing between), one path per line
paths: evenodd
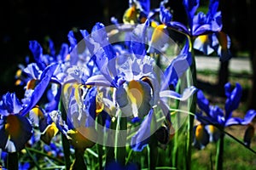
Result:
M137 42L137 37L145 35L147 26L146 21L143 25L135 28L136 37L131 37L131 44ZM102 24L96 24L91 36L88 32L84 35L86 35L84 39L90 48L92 58L101 71L101 74L89 77L85 84L115 88L114 100L105 99L105 101L108 100L108 104L110 103L113 107L117 104L126 116L131 115L135 119L138 118L137 120L143 119L141 127L131 139L131 146L134 150L143 150L143 147L148 144L150 136L148 126L154 116L153 106L160 104L167 115L170 113L170 108L166 104L166 98L186 100L195 93L195 87L187 88L183 94L169 90L171 85L176 86L178 77L181 77L191 64L189 43L186 43L181 54L167 67L159 82L157 74L154 72L154 59L144 53L145 46L141 45L142 42L137 43L136 46L131 45L128 52L119 54L114 52L116 48L113 48L107 41L107 33ZM106 48L102 46L103 42ZM123 51L125 50L127 49L123 48Z

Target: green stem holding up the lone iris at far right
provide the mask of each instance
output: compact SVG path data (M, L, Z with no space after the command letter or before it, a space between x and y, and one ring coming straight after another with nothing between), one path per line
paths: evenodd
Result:
M217 144L217 153L216 153L216 164L215 164L216 170L223 169L223 161L224 161L223 153L224 153L224 133L220 133L220 137L218 139L218 144Z

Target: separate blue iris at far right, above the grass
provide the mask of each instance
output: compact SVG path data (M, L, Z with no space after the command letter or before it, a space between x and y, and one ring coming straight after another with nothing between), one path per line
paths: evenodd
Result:
M219 108L218 105L210 105L201 90L197 92L197 104L201 111L196 113L196 119L201 122L202 126L207 127L209 134L217 135L218 130L216 127L224 129L224 127L233 125L248 125L253 121L254 116L256 116L256 111L254 110L247 111L243 118L232 116L232 112L238 108L240 103L241 85L236 82L236 87L232 90L230 82L227 82L224 88L227 97L224 110ZM209 128L212 128L212 130L209 130ZM203 130L201 130L201 132L203 132ZM200 135L200 133L198 133L198 135ZM195 136L198 135L195 134ZM205 138L201 137L201 139ZM216 141L217 139L218 138L215 138L214 140Z

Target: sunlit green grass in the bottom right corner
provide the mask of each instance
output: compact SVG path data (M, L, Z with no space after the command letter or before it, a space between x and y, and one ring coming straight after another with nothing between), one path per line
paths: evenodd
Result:
M239 127L241 128L241 127ZM242 139L242 133L238 139ZM256 150L256 139L253 139L251 148ZM208 144L203 150L193 149L192 169L205 170L214 169L214 160L216 154L216 144ZM212 163L211 163L212 162ZM211 165L212 164L212 165ZM234 139L225 136L224 139L224 169L256 169L255 154L247 150L244 146L237 143Z

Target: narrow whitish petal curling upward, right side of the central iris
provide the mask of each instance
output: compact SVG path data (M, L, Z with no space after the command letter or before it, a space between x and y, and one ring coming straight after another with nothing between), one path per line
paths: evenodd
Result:
M186 88L183 91L182 95L181 94L177 94L175 91L172 91L172 90L164 90L164 91L160 92L160 98L167 97L167 98L179 99L179 100L184 101L186 99L189 99L189 97L192 94L195 94L196 90L197 90L197 88L195 88L194 86Z

